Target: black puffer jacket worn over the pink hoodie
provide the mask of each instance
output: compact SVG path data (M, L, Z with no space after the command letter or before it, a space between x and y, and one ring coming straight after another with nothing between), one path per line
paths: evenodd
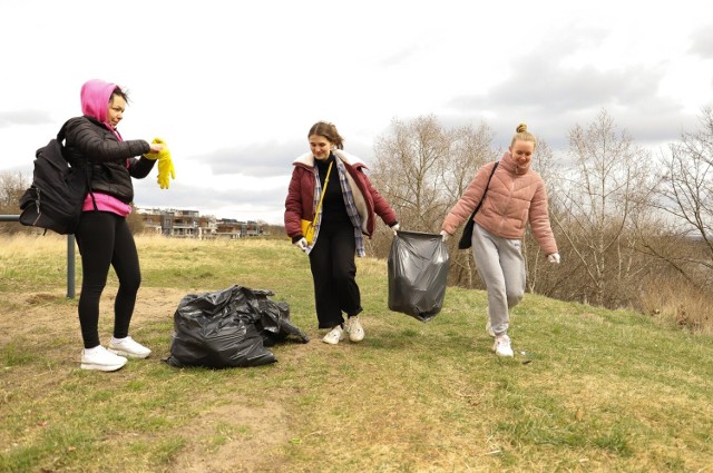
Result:
M146 177L156 162L136 158L150 151L147 141L119 141L111 130L90 117L68 120L65 139L65 157L72 167L86 169L87 164L91 165L91 190L116 197L125 204L134 199L131 177Z

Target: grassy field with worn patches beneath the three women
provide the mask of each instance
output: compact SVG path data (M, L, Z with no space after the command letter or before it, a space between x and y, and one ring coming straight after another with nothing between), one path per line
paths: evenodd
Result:
M131 333L154 348L78 368L64 238L0 242L0 472L703 472L713 341L626 311L528 294L516 356L485 334L485 293L449 288L429 323L388 311L387 264L358 260L367 338L320 342L309 264L289 242L137 238ZM79 268L79 264L78 264ZM174 368L187 293L240 284L290 304L309 344L279 363ZM79 280L77 282L79 287ZM110 334L116 279L102 299Z

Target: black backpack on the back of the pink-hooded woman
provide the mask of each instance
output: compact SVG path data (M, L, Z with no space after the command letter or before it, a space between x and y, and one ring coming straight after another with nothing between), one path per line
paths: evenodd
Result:
M65 159L65 126L36 152L32 185L20 197L20 224L74 234L89 193L90 166L72 168ZM94 197L94 196L92 196ZM96 207L96 203L95 203Z

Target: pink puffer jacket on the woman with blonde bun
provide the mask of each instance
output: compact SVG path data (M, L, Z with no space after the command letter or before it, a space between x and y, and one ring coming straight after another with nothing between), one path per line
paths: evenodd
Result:
M488 162L480 168L446 216L441 229L452 235L470 217L482 197L492 166L495 162ZM539 174L529 168L522 174L517 174L515 160L509 152L500 159L475 220L488 231L509 239L522 238L529 221L533 235L545 255L558 253L549 225L545 183Z

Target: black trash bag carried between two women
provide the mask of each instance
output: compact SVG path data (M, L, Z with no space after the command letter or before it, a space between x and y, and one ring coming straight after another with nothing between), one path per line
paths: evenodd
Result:
M397 231L389 253L389 308L428 322L443 307L448 248L438 234Z

